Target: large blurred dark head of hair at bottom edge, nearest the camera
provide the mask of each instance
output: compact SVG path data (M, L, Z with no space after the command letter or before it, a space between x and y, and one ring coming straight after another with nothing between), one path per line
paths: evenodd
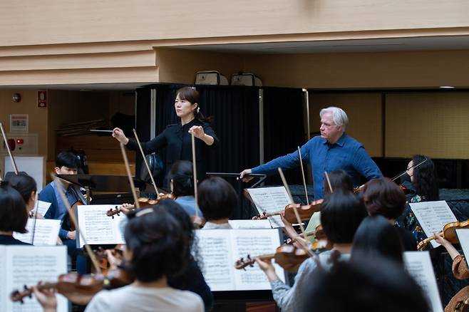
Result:
M299 312L428 312L420 286L394 261L366 256L316 270Z

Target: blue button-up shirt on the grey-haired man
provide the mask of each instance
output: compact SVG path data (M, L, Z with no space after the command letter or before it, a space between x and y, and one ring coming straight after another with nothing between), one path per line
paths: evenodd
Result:
M364 146L345 133L334 144L330 144L320 136L313 137L301 146L301 160L308 161L312 167L314 199L324 197L324 172L344 170L351 176L355 187L359 186L360 175L368 180L383 176ZM252 173L273 175L278 172L278 167L285 170L298 166L298 152L296 151L254 167Z

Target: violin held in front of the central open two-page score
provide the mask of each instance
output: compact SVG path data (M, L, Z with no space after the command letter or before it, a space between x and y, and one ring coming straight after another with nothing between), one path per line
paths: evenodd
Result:
M304 249L297 248L297 246L284 244L277 247L275 254L264 254L256 258L261 260L274 259L275 263L282 266L283 269L289 272L296 272L303 261L309 258L309 254ZM255 260L248 254L246 259L241 258L237 260L234 268L244 269L246 266L254 266L254 262Z

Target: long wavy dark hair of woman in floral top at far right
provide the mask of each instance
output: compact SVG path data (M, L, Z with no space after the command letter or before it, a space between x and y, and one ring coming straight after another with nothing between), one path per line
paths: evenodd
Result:
M426 160L425 162L423 162ZM413 168L413 185L416 192L426 201L440 200L440 191L438 189L438 173L435 164L429 157L423 155L414 155L412 157L413 165L421 165Z

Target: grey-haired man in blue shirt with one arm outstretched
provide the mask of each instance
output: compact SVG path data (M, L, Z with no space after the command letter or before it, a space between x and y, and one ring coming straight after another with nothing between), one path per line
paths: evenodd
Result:
M345 129L349 119L344 110L336 107L324 108L319 116L321 136L313 137L301 147L301 159L309 161L313 170L314 199L324 197L324 172L344 170L351 176L354 186L359 185L360 175L368 180L383 176L364 146L346 135ZM286 170L298 165L298 153L295 151L264 165L243 170L240 178L247 182L252 178L244 175L250 173L272 175L277 172L278 167Z

